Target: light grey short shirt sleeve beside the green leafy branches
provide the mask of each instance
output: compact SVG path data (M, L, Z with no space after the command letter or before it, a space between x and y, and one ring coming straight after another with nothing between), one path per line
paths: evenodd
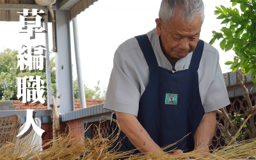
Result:
M205 95L204 110L205 113L224 108L230 104L228 98L227 86L225 84L223 74L219 63L219 53L216 50L217 58L213 61L212 67L212 82L208 92Z

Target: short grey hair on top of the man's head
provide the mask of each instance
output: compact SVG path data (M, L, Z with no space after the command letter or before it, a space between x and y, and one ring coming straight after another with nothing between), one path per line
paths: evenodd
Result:
M204 22L204 2L202 0L163 0L159 10L159 19L163 26L168 24L175 14L177 6L180 7L180 15L183 22L190 23L196 14L199 14Z

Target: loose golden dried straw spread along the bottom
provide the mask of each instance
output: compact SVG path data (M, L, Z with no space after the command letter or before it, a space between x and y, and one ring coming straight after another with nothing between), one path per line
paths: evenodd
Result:
M104 122L104 121L103 121ZM91 127L91 126L89 126ZM89 128L88 127L88 128ZM135 159L188 159L193 157L194 159L244 159L245 157L256 155L256 140L246 140L239 143L233 143L227 147L218 148L218 150L213 150L212 154L207 157L201 158L202 154L205 154L202 150L194 150L192 152L178 154L172 156L168 153L157 154L156 152L148 152L145 154L132 154L134 150L129 152L116 152L116 149L120 147L120 142L117 143L115 149L108 150L117 140L118 134L120 133L118 129L117 135L109 135L111 140L108 138L103 138L100 134L100 125L96 126L99 135L95 138L84 138L83 134L72 138L72 132L68 134L61 134L55 140L50 140L45 143L42 148L50 146L46 150L40 151L38 148L35 152L30 153L29 150L33 150L33 147L20 147L14 143L8 143L0 148L0 159L122 159L127 158L131 160ZM88 129L87 128L87 129ZM86 129L86 130L87 130ZM67 131L67 128L66 128ZM86 131L84 131L86 132ZM179 143L179 141L177 142ZM54 145L53 145L54 144ZM115 143L116 144L116 143ZM175 145L168 145L162 148L162 150ZM170 152L174 152L171 150ZM27 152L26 156L20 157L19 153Z

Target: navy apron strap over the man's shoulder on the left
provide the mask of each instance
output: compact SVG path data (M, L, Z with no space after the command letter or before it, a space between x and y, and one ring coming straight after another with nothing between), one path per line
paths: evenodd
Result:
M155 52L152 48L150 40L148 39L148 36L147 35L140 35L140 36L135 36L135 38L138 40L141 51L143 52L144 57L147 61L149 70L151 71L153 68L158 67L158 63L157 63L157 60L156 60L156 55L155 55Z

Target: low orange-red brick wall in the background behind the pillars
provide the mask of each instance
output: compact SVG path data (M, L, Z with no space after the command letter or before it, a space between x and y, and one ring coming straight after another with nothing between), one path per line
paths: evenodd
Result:
M97 104L104 103L105 99L86 99L86 107L95 106ZM13 100L13 106L15 106L15 110L26 110L26 109L47 109L47 100L42 104L40 102L35 102L31 104L33 100L30 102L22 103L21 100ZM81 109L80 99L75 99L75 110Z

